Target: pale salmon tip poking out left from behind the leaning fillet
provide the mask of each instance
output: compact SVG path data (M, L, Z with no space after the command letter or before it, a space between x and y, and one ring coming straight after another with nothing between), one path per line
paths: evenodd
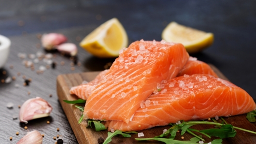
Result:
M96 78L89 83L83 83L79 86L71 87L71 89L69 90L69 93L77 95L82 100L87 100L89 95L91 94L92 90L105 77L105 75L108 71L109 70L100 72L96 76Z

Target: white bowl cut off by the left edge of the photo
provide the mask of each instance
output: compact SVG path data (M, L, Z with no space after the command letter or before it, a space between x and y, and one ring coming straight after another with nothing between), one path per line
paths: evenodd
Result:
M0 35L0 68L6 63L10 52L10 39Z

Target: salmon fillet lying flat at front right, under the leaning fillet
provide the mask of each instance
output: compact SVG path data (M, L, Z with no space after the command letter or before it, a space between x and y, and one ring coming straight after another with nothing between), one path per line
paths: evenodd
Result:
M185 75L169 80L159 93L141 103L129 123L107 121L108 130L144 130L209 117L240 115L255 110L252 97L243 89L208 74Z

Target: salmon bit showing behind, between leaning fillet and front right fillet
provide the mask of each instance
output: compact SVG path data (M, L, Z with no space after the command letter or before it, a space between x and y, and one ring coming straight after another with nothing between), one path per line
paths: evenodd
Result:
M218 75L211 69L211 67L197 58L190 57L186 65L180 70L177 76L183 76L184 74L210 74L214 77Z

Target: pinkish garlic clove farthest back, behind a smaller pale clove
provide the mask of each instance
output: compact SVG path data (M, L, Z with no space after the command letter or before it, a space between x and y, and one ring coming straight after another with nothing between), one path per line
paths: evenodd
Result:
M55 48L56 45L59 45L66 41L67 41L67 38L63 34L59 34L59 33L43 34L41 38L42 46L46 50L52 50Z

